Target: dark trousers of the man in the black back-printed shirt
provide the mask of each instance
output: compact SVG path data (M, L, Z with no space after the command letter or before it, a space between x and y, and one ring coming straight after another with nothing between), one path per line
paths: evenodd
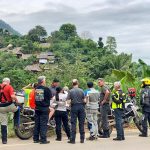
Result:
M35 127L33 133L34 141L45 142L47 140L47 123L49 111L35 110ZM40 139L39 139L40 138Z

